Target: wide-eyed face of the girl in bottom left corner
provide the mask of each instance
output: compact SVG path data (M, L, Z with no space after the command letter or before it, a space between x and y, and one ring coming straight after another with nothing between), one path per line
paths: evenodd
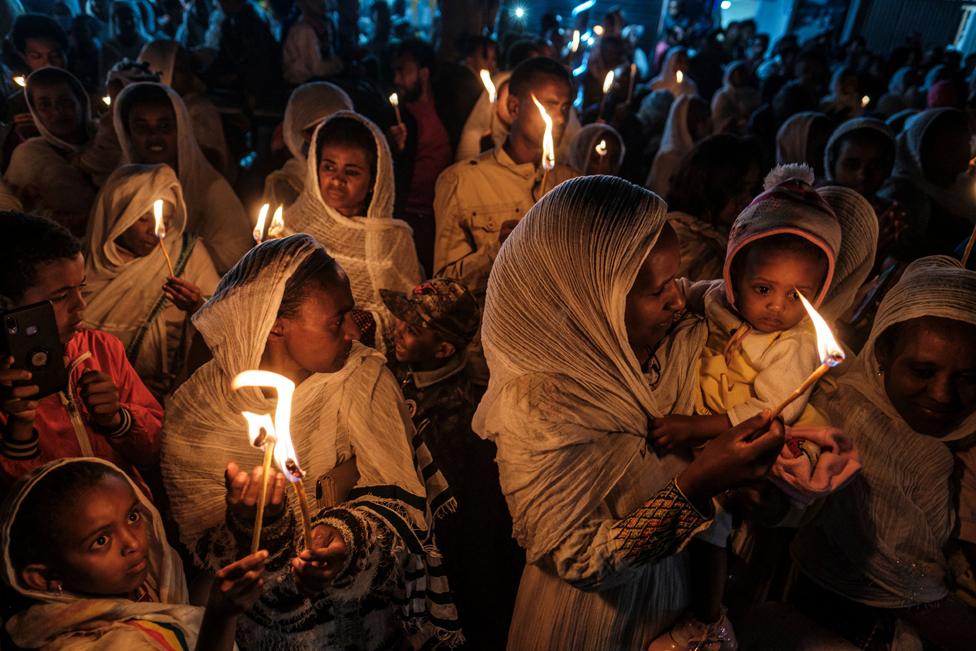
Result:
M69 592L129 596L149 572L149 523L125 479L103 477L62 509L56 567Z

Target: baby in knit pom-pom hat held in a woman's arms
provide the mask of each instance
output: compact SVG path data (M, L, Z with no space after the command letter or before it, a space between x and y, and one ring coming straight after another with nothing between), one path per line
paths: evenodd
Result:
M812 182L805 166L774 170L766 179L766 191L732 226L724 280L699 283L689 291L689 307L703 311L708 322L700 360L699 415L655 419L651 438L658 448L706 445L730 427L779 405L820 365L816 333L799 294L815 307L824 300L841 249L841 227ZM789 443L784 446L772 473L801 505L840 487L857 469L850 442L837 430L823 427L823 418L807 408L809 394L784 409L782 418L787 425L820 427L794 427L796 454L788 451ZM810 441L819 459L802 454ZM796 467L801 464L805 465ZM721 612L724 549L700 542L691 548L696 555L692 567L703 578L695 583L709 587L696 590L690 628L679 624L665 637L680 644L678 638L688 630L708 626L709 633L721 639L722 649L733 649L735 636ZM723 627L724 631L715 630Z

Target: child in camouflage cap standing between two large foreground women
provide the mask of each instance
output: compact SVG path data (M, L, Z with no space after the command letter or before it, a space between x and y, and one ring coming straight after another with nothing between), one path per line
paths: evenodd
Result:
M397 318L390 364L417 433L458 501L457 511L438 521L434 533L468 639L465 648L504 648L525 559L511 536L495 446L471 431L481 396L465 372L465 349L478 330L478 302L447 278L423 283L409 295L381 293Z

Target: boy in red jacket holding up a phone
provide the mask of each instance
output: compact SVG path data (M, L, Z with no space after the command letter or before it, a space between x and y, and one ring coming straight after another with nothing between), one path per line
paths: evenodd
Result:
M0 301L7 310L50 301L68 369L67 385L37 397L32 375L0 363L0 494L53 459L95 456L126 471L141 488L155 471L163 410L125 356L122 343L82 328L85 261L64 227L0 213Z

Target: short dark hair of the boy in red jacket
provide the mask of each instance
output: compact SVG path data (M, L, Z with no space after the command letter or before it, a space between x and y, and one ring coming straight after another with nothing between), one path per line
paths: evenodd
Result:
M0 212L0 298L19 303L37 282L37 268L81 252L81 242L61 224L21 212Z

